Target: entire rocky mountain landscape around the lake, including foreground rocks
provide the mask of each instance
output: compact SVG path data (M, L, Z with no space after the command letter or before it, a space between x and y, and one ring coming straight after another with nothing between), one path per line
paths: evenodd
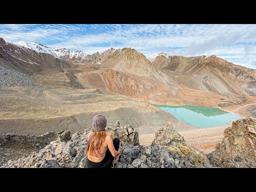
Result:
M198 129L155 104L218 107L252 118ZM81 133L95 114L134 145L122 145L119 167L255 167L256 70L215 55L145 57L130 47L86 54L0 38L0 166L84 164Z

